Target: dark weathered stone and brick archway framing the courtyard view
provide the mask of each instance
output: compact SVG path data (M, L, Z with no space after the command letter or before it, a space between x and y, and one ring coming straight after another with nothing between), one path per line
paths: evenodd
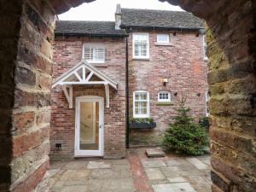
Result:
M32 191L49 166L55 14L93 0L0 2L0 190ZM164 1L164 0L160 0ZM254 191L253 0L167 0L207 20L212 95L212 191Z

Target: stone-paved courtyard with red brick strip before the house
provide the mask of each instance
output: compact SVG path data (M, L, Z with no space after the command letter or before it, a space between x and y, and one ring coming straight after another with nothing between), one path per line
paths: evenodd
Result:
M52 192L209 192L209 155L166 154L149 159L145 148L132 148L124 160L52 161Z

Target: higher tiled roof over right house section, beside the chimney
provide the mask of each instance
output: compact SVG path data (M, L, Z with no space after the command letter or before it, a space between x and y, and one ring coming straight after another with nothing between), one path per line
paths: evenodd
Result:
M204 20L184 11L121 9L122 27L195 30L205 28Z

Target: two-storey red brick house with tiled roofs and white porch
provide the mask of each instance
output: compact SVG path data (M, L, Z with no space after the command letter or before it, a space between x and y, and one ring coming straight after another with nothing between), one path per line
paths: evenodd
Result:
M125 144L159 144L184 93L194 116L206 115L204 21L119 6L115 18L56 22L52 158L122 158ZM153 129L129 128L149 117Z

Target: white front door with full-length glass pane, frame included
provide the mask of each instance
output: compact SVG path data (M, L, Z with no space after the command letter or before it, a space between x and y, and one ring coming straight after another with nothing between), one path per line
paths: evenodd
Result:
M103 156L103 98L76 98L75 156Z

